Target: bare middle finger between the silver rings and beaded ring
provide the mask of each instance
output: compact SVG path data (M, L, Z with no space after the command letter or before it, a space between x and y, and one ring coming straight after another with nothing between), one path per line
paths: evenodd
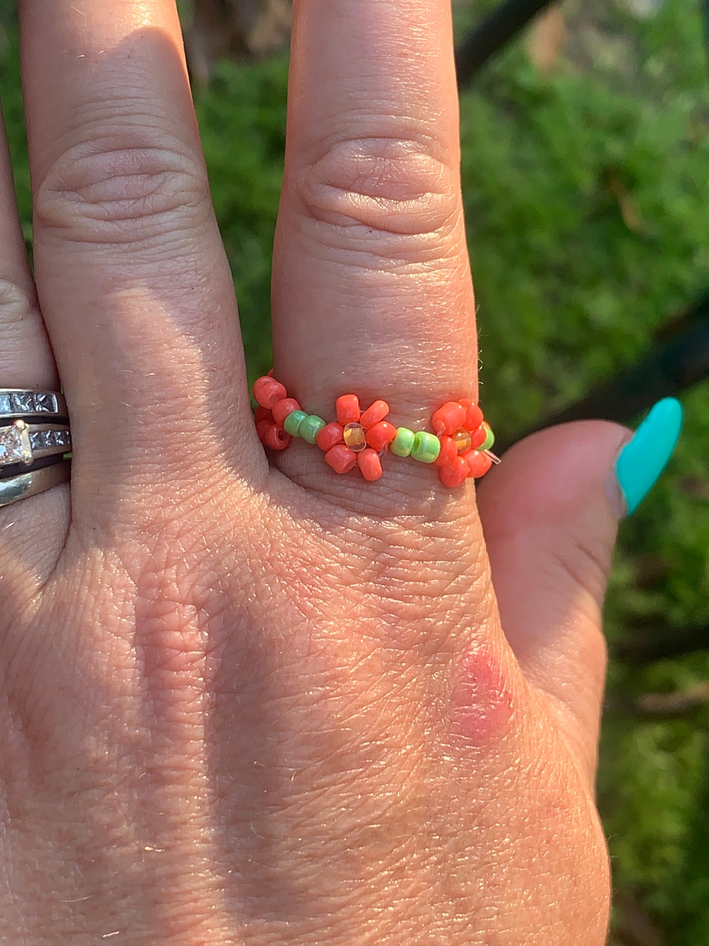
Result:
M257 453L233 281L175 0L19 11L37 289L72 408L75 498L109 509L112 484L245 471Z

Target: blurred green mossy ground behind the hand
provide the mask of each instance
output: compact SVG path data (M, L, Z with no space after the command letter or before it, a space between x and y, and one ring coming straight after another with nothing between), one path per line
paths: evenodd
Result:
M665 478L621 527L606 607L598 801L613 946L709 944L706 2L565 0L479 69L475 28L495 4L455 5L486 416L510 443L564 416L636 424L663 394L686 412ZM185 0L181 11L253 378L270 363L290 10ZM0 94L31 251L11 0L0 0Z

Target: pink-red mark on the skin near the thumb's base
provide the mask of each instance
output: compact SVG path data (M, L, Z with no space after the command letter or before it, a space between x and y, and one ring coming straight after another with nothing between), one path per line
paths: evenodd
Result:
M464 654L451 694L453 732L468 745L499 742L510 728L512 696L501 655L492 644Z

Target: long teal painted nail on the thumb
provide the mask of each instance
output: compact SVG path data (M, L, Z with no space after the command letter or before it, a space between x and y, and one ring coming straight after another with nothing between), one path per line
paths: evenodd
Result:
M629 516L658 481L674 453L681 430L682 404L674 397L666 397L655 404L631 442L620 451L615 474Z

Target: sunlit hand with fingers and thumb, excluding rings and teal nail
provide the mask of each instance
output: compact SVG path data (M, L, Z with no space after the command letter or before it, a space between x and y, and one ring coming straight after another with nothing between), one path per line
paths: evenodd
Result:
M537 435L477 505L395 458L269 466L174 3L20 16L36 290L6 163L0 383L56 359L75 460L0 511L0 939L600 946L627 431ZM476 396L457 121L445 0L296 4L273 343L308 411Z

